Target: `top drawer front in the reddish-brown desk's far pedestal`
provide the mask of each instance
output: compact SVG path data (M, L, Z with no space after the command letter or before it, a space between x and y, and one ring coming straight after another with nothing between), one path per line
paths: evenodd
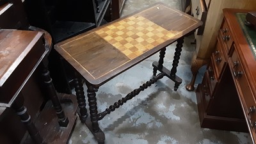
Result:
M230 51L230 48L232 47L232 44L234 43L234 40L230 33L230 29L228 28L228 24L225 20L223 22L222 28L220 29L220 34L221 34L223 44L225 45L225 49L228 53Z

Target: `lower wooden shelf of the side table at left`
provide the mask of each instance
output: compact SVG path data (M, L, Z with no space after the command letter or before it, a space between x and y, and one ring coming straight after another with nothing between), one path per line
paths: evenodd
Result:
M63 106L63 111L65 111L65 115L69 120L67 127L60 127L58 117L56 116L56 110L52 107L51 100L47 101L45 104L44 110L35 121L35 126L45 143L64 144L68 143L74 125L76 124L77 102L76 95L65 93L57 94L61 105ZM22 143L32 144L33 141L31 140L31 137L28 136Z

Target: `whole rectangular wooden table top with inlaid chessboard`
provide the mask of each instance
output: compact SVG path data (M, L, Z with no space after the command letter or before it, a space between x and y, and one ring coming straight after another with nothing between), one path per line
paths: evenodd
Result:
M54 48L89 83L100 85L201 25L191 15L157 3Z

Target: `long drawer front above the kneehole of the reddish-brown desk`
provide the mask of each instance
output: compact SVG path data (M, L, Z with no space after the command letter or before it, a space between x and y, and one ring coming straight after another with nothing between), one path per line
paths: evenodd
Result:
M237 86L239 97L242 100L244 112L246 113L246 119L251 128L256 127L256 101L253 97L252 90L248 84L248 79L244 73L241 60L237 54L236 48L230 58L230 68Z

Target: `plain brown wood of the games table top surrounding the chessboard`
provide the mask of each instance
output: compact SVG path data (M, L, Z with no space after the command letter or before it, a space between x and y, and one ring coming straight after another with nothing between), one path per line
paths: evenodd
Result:
M173 33L173 37L143 52L140 56L130 59L95 33L107 26L115 26L116 22L132 16L145 17L158 26L163 27L166 31ZM151 8L141 10L139 13L133 13L122 19L109 22L109 24L99 28L74 36L56 44L54 47L88 82L100 85L108 81L111 77L117 76L127 68L145 60L145 58L156 53L162 47L172 44L177 38L186 35L189 31L193 31L201 24L202 22L185 13L173 10L162 4L156 4ZM143 45L143 43L141 44ZM90 63L88 63L89 61Z

